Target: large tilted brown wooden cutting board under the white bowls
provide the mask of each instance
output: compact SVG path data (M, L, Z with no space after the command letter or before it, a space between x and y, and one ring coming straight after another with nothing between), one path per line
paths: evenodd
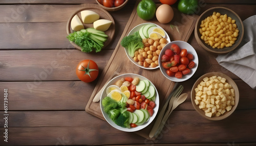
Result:
M145 22L153 22L162 27L167 34L169 35L169 38L171 41L174 40L182 40L187 41L190 37L191 33L193 32L196 24L196 20L199 17L198 15L186 15L180 13L176 8L174 9L174 18L170 23L162 24L157 21L156 17L153 18L150 21L146 21L141 19L137 15L137 5L139 1L135 4L135 7L133 9L133 12L131 14L131 17L129 21L127 22L127 25L123 31L123 34L115 48L115 51L113 52L113 55L111 56L109 63L106 65L104 70L102 71L101 76L99 77L98 83L95 86L95 89L91 95L91 98L86 106L86 111L98 118L101 118L103 120L104 117L100 110L100 104L94 103L93 98L98 93L98 91L103 87L103 85L106 83L106 81L110 78L111 74L117 69L118 66L121 66L120 74L127 74L127 73L133 73L138 74L141 76L144 76L148 80L150 80L157 88L159 93L159 111L161 110L161 105L163 105L163 102L167 98L167 96L170 94L170 92L173 90L175 86L175 82L167 80L161 73L160 69L143 69L138 66L136 66L134 63L132 63L129 58L125 54L124 48L120 45L120 42L124 36L127 36L129 32L136 27L137 25ZM160 5L157 5L160 6ZM170 25L174 25L176 27L172 28ZM176 29L177 28L177 29ZM155 120L154 120L155 121ZM143 130L134 132L142 137L145 137L147 139L151 139L148 137L148 134L150 133L154 121L152 124L148 125Z

